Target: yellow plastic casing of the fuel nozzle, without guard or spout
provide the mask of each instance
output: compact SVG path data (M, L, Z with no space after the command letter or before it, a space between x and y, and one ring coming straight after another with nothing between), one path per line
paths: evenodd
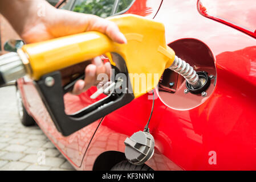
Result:
M123 58L128 73L132 76L130 80L135 97L155 88L164 69L170 67L175 56L174 51L166 46L164 25L137 15L120 15L108 19L119 26L127 38L127 44L114 43L106 35L96 31L27 44L22 47L27 60L21 50L18 52L31 69L29 75L34 80L39 80L47 73L111 52ZM135 81L137 77L145 77L141 81L147 84L138 84Z

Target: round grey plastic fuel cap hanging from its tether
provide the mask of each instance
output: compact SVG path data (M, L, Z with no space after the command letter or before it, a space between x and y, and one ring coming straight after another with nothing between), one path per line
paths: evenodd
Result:
M132 164L144 164L154 154L155 140L147 131L134 133L130 138L125 139L124 144L125 157Z

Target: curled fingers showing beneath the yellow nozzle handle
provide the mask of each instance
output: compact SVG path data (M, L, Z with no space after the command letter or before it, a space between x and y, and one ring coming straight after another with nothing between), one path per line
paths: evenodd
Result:
M85 69L84 80L79 80L75 83L72 93L77 95L85 92L87 89L91 88L91 86L97 85L102 81L97 80L97 75L100 73L106 74L109 79L111 74L111 64L103 64L100 57L95 57L95 59L92 60L92 64L88 65Z

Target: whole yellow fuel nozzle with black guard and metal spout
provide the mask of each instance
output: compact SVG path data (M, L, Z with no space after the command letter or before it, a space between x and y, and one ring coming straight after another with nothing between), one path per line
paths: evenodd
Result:
M0 84L30 75L52 121L64 136L149 92L158 84L166 68L180 73L193 88L198 86L197 73L166 46L162 23L137 15L114 16L109 20L119 26L127 44L115 43L96 31L27 44L17 53L0 56ZM111 63L120 75L107 88L92 94L91 98L105 90L109 94L77 113L67 115L63 95L75 81L63 87L59 70L103 54L111 57ZM116 89L122 92L116 92Z

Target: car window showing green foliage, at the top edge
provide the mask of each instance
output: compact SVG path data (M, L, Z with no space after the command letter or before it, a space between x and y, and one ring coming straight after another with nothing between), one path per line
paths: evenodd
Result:
M113 14L124 13L135 0L76 0L73 11L94 14L106 18ZM115 4L117 5L115 7Z

